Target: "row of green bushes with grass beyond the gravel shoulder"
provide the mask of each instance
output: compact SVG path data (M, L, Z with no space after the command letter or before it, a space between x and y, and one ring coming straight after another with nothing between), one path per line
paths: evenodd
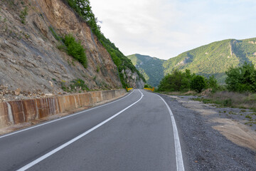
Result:
M181 95L202 96L201 91L208 90L207 96L193 98L203 103L215 103L223 107L248 108L256 110L256 69L252 63L239 67L230 67L226 71L225 85L218 85L214 76L205 78L189 70L178 70L165 76L159 85L160 92L179 92ZM190 90L196 93L188 93Z

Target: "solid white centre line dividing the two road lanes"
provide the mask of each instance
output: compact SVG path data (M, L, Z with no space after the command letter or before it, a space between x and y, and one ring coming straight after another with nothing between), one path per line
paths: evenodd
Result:
M132 105L135 105L136 103L138 103L140 100L142 100L143 98L143 93L139 90L139 92L142 94L141 98L139 98L139 100L137 100L136 102L132 103ZM112 120L113 118L117 117L117 115L121 114L122 112L124 112L124 110L127 110L128 108L131 108L132 105L129 105L127 108L124 108L123 110L119 111L119 113L116 113L114 115L112 115L112 117L108 118L107 120L104 120L102 123L99 123L98 125L96 125L93 128L90 128L90 130L85 131L85 133L82 133L81 135L78 135L78 137L73 138L72 140L65 142L65 144L60 145L59 147L55 148L54 150L51 150L50 152L46 153L46 155L43 155L41 157L39 157L36 160L33 160L33 162L28 163L28 165L25 165L23 167L21 167L20 169L18 169L17 171L23 171L23 170L28 170L30 167L33 167L33 165L36 165L38 162L41 162L42 160L46 159L47 157L49 157L50 155L53 155L55 152L58 152L59 150L62 150L64 147L67 147L68 145L72 144L73 142L75 142L76 140L79 140L80 138L84 137L85 135L87 135L88 133L92 132L92 130L95 130L97 128L99 128L101 125L107 123L108 121Z

